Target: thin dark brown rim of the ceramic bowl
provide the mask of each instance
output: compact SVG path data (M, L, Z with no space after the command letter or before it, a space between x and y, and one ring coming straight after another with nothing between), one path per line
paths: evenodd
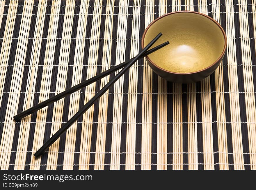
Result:
M150 24L147 26L146 30L144 31L144 33L143 33L143 35L142 35L142 39L141 39L141 47L142 47L142 49L144 49L144 38L145 38L145 34L147 33L147 30L150 28L150 26L151 26L153 23L155 23L155 22L158 21L159 19L161 19L161 18L163 18L163 17L166 17L166 16L168 16L168 15L170 15L170 14L181 13L181 12L190 12L190 13L200 14L200 15L202 15L202 16L204 16L204 17L207 17L208 19L210 19L211 21L213 21L215 24L218 25L218 27L221 29L221 31L222 31L222 33L223 33L224 40L225 40L224 49L223 49L223 52L221 53L221 56L217 59L217 61L215 61L215 62L214 62L213 64L211 64L210 66L208 66L208 67L206 67L206 68L204 68L204 69L202 69L202 70L195 71L195 72L190 72L190 73L176 73L176 72L171 72L171 71L165 70L165 69L159 67L158 65L156 65L153 61L151 61L151 60L149 59L148 56L146 56L146 59L147 59L152 65L154 65L155 67L157 67L158 69L160 69L160 70L162 70L162 71L165 71L165 72L168 72L168 73L171 73L171 74L194 74L194 73L199 73L199 72L201 72L201 71L205 71L205 70L209 69L210 67L212 67L213 65L215 65L216 63L218 63L218 62L222 59L223 55L225 54L226 48L227 48L227 36L226 36L226 34L225 34L225 31L223 30L223 28L221 27L221 25L220 25L216 20L214 20L213 18L209 17L209 16L206 15L206 14L202 14L202 13L200 13L200 12L195 12L195 11L182 10L182 11L170 12L170 13L167 13L167 14L162 15L161 17L158 17L157 19L155 19L154 21L152 21L152 23L150 23Z

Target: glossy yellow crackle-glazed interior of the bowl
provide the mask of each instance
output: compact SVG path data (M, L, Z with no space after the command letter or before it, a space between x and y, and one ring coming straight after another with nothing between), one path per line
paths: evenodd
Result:
M144 47L159 33L152 46L170 44L149 54L149 59L162 69L175 73L197 72L212 65L221 56L225 38L211 19L196 13L178 12L154 22L146 31Z

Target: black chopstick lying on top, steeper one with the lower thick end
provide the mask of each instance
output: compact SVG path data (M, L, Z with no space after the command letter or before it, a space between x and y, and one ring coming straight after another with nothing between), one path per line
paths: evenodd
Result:
M47 140L45 144L35 152L34 156L38 157L43 154L43 152L48 149L49 146L51 146L79 117L81 117L83 113L86 112L86 110L89 109L89 107L91 107L111 85L113 85L138 59L140 59L141 55L143 55L161 35L162 33L159 33L136 57L127 63L127 65L117 75L115 75L109 83L107 83L95 96L93 96L92 99L90 99L90 101L86 103L86 105L84 105L72 118L70 118L70 120L67 121L67 123L65 123L49 140Z

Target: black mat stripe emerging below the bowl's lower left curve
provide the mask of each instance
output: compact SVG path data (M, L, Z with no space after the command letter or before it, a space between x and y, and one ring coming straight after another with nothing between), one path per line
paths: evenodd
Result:
M159 17L159 1L154 1L154 19ZM157 91L158 75L152 73L152 140L151 153L157 153ZM151 169L157 169L157 154L151 154Z

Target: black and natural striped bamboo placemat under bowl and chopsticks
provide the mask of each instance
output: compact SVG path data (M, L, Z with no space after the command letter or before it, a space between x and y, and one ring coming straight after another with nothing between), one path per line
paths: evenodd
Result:
M218 69L192 84L141 59L42 156L33 153L113 74L15 123L13 116L138 54L168 12L213 17ZM255 1L1 1L0 169L255 169Z

